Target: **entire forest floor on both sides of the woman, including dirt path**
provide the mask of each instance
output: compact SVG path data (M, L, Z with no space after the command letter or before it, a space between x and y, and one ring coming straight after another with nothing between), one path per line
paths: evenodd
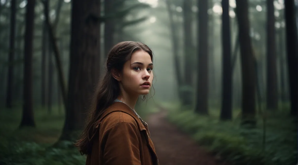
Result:
M233 121L223 122L218 120L218 109L210 109L209 116L202 116L172 102L160 103L164 108L151 102L147 105L138 113L149 125L160 165L297 164L297 119L290 118L288 110L268 118L263 150L260 118L257 128L247 130L239 127L236 110ZM19 129L21 114L20 107L0 108L1 165L85 164L86 156L80 155L73 142L50 147L64 124L64 114L58 108L53 108L50 115L45 108L35 108L35 128Z

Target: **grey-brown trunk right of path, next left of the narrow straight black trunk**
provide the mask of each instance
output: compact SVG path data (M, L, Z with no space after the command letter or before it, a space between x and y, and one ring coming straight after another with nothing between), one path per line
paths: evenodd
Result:
M198 78L195 112L208 114L208 2L198 0Z

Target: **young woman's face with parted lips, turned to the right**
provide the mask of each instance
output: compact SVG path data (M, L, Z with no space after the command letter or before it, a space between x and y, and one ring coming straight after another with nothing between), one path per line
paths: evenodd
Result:
M137 50L126 61L121 74L121 83L125 92L132 95L146 95L153 81L153 63L144 50Z

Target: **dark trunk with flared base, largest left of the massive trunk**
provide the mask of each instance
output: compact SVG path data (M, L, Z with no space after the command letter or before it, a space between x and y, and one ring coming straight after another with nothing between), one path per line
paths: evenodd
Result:
M24 41L24 93L23 113L20 127L35 127L32 107L32 50L34 32L35 0L30 0L26 6L26 31Z

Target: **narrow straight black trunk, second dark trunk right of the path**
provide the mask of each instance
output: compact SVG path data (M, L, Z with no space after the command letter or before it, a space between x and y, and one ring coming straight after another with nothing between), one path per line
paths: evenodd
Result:
M221 120L232 119L232 68L231 68L231 34L229 0L222 0L222 48L223 48L223 74L222 74L222 102Z

